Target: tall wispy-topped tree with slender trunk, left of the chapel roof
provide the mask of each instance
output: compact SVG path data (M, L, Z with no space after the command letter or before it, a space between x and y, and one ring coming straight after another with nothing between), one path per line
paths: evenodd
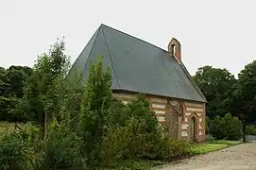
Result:
M60 98L65 92L63 79L70 67L69 57L65 54L63 40L54 43L48 54L39 56L33 73L26 81L20 109L30 121L44 127L44 137L48 122L53 115L60 117Z

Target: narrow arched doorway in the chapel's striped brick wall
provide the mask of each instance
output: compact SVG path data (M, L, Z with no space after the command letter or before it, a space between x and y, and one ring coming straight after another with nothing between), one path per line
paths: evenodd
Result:
M198 130L199 130L199 120L196 112L193 112L189 116L189 137L191 142L198 141ZM193 134L192 134L193 133Z

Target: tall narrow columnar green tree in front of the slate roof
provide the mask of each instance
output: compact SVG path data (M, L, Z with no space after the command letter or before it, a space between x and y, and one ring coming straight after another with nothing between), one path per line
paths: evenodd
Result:
M108 128L108 113L111 108L111 69L103 71L102 59L91 64L85 85L79 118L81 152L89 166L99 163L100 145Z

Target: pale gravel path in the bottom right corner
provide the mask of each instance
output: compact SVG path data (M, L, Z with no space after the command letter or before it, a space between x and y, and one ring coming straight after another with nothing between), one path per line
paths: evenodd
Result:
M247 143L164 165L155 170L256 170L256 143Z

